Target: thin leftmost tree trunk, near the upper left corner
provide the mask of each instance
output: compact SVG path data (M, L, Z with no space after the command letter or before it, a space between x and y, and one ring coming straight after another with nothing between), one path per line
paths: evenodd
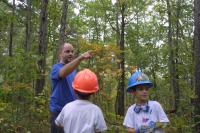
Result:
M15 17L15 0L13 0L13 6L12 6L12 20L10 24L10 34L9 34L9 48L8 48L8 54L10 57L13 56L13 26L14 26L14 17Z

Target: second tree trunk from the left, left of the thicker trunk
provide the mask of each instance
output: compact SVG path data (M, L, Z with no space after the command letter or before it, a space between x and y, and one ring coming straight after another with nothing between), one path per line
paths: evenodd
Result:
M30 50L31 45L31 15L32 15L32 9L31 9L31 0L27 0L27 13L26 13L26 37L25 37L25 44L24 49L25 51Z

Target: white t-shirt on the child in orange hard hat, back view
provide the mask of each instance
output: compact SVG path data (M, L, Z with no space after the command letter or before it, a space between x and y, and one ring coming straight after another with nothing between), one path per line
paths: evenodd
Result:
M55 123L65 133L95 133L107 129L101 109L87 100L66 104Z

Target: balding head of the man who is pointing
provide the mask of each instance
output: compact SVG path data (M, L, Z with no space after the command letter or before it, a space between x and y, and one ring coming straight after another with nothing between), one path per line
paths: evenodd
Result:
M60 62L67 64L74 59L74 48L70 43L64 43L60 47L59 52Z

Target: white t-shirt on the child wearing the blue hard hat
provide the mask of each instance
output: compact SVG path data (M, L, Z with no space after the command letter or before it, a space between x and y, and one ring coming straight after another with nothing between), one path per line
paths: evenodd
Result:
M152 122L169 122L160 103L157 101L148 101L149 111L139 112L134 111L136 104L128 108L123 125L129 128L139 129L142 125L148 126ZM163 133L162 129L156 129L154 133Z

